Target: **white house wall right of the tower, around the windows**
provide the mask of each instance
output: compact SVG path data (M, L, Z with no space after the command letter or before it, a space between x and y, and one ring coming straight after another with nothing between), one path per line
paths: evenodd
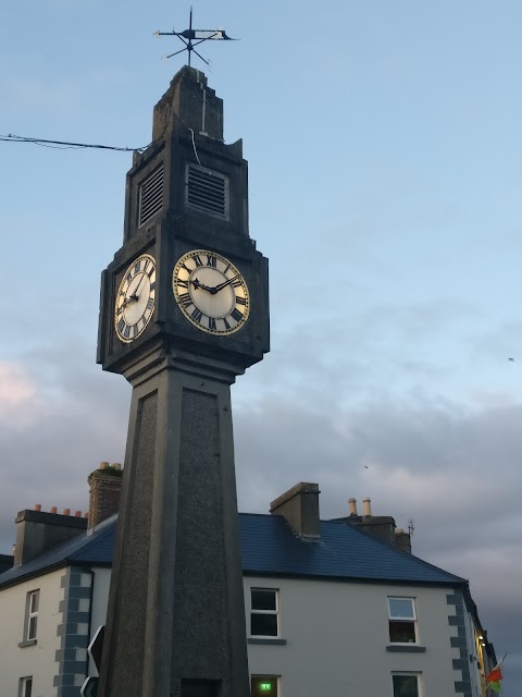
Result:
M451 646L457 627L448 620L455 613L451 588L258 577L245 577L244 588L248 636L250 589L278 589L279 638L286 644L250 638L248 656L251 674L281 676L281 697L386 697L394 671L421 673L423 697L459 694L462 673L452 661L460 653ZM388 596L415 598L420 652L409 645L388 650Z

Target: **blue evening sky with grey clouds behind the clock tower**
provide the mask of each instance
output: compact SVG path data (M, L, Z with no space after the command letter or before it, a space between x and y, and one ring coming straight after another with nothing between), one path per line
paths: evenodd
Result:
M189 2L18 0L0 135L137 148L183 65ZM316 481L413 521L469 578L505 697L522 684L519 0L201 0L225 140L244 138L272 351L233 388L238 503ZM100 272L130 152L0 142L0 552L17 511L87 509L123 462L130 389L96 365Z

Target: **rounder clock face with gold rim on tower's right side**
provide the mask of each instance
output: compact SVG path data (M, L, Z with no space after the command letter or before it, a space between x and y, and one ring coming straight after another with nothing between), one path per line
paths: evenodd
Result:
M176 303L198 329L232 334L248 319L248 288L238 269L221 254L195 249L178 259L172 274Z

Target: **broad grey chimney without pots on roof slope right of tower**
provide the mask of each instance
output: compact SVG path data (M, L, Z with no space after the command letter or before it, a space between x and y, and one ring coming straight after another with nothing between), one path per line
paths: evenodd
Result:
M319 539L319 485L301 481L270 504L272 515L282 515L304 539Z

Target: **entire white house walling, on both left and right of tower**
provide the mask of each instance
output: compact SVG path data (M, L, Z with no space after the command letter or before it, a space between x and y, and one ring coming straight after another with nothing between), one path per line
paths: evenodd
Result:
M0 616L9 629L0 633L1 697L16 697L18 681L27 675L33 675L36 697L78 695L86 674L86 647L104 623L109 598L110 570L94 572L92 576L87 570L62 568L2 589ZM464 613L461 595L451 588L248 576L244 588L247 636L250 589L278 589L279 643L252 643L250 637L248 657L251 674L281 676L279 697L390 697L394 671L421 673L421 697L470 695L464 687L456 689L463 674L452 667L461 660L457 646L463 628L459 625L464 624L457 615ZM40 589L37 644L20 648L26 595L36 589ZM419 646L388 650L388 596L415 598ZM97 674L94 665L89 674Z

